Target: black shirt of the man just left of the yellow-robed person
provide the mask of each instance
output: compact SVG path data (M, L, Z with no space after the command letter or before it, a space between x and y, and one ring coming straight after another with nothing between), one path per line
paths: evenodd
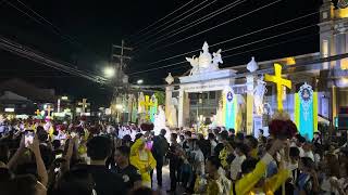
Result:
M126 168L121 169L119 166L115 167L113 172L121 176L126 188L129 191L134 187L134 183L141 181L140 172L133 165L128 165Z

